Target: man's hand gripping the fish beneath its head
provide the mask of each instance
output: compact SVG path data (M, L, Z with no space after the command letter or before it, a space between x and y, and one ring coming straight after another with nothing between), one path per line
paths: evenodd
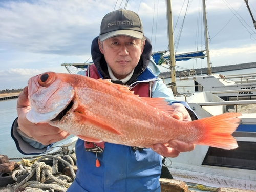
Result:
M69 136L69 133L59 129L58 127L51 126L48 123L30 122L26 117L26 114L30 109L31 106L28 99L28 87L25 87L19 94L17 100L18 126L23 133L34 138L43 145L49 145Z

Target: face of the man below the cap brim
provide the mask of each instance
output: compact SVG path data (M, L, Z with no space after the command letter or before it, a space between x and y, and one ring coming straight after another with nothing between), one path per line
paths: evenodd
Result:
M115 36L99 43L100 52L111 67L117 79L125 78L137 66L144 45L141 39L128 36Z

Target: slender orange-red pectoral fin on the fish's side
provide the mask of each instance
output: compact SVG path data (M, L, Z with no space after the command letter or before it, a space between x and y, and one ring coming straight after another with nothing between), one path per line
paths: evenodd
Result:
M111 133L117 134L117 135L123 135L121 132L119 132L118 130L116 130L115 128L109 126L108 124L106 124L105 122L96 119L94 117L88 116L86 114L82 114L79 112L75 112L78 116L80 116L85 122L91 123L97 127L99 127L100 129L104 130L104 131L109 131Z

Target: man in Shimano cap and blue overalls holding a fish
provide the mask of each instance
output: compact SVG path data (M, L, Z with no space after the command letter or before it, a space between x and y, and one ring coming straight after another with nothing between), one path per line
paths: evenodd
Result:
M88 67L87 75L129 85L140 97L163 97L175 109L176 118L190 121L189 113L195 115L186 110L184 105L187 108L188 105L175 101L172 91L148 68L151 52L152 46L143 34L139 16L128 10L113 11L102 19L100 35L92 42L94 65ZM26 119L30 110L27 97L25 88L17 101L18 118L13 124L12 136L23 154L41 153L69 134L47 123L29 122ZM160 191L160 155L177 157L180 152L191 151L194 147L176 140L142 149L78 139L78 170L69 191ZM99 167L95 166L96 158Z

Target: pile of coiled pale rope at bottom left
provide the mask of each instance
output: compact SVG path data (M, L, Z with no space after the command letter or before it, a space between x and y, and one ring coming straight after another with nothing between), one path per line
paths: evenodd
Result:
M44 162L40 162L42 159L53 159L53 166L46 165ZM42 157L37 157L37 159L32 160L25 160L22 159L22 161L19 163L19 170L15 170L12 174L12 178L17 181L16 176L29 174L23 181L18 183L14 190L15 191L22 191L25 190L26 192L30 191L49 191L45 189L51 189L50 191L66 191L72 182L75 179L75 172L72 167L74 165L74 161L76 161L75 155L65 155L64 158L67 158L69 162L65 161L64 159L52 156L52 155L46 155ZM71 175L73 179L66 175L60 175L58 177L55 177L53 174L59 174L57 162L60 161L64 164L66 164L71 172ZM36 181L29 181L29 179L36 173ZM53 180L52 183L44 183L46 181Z

